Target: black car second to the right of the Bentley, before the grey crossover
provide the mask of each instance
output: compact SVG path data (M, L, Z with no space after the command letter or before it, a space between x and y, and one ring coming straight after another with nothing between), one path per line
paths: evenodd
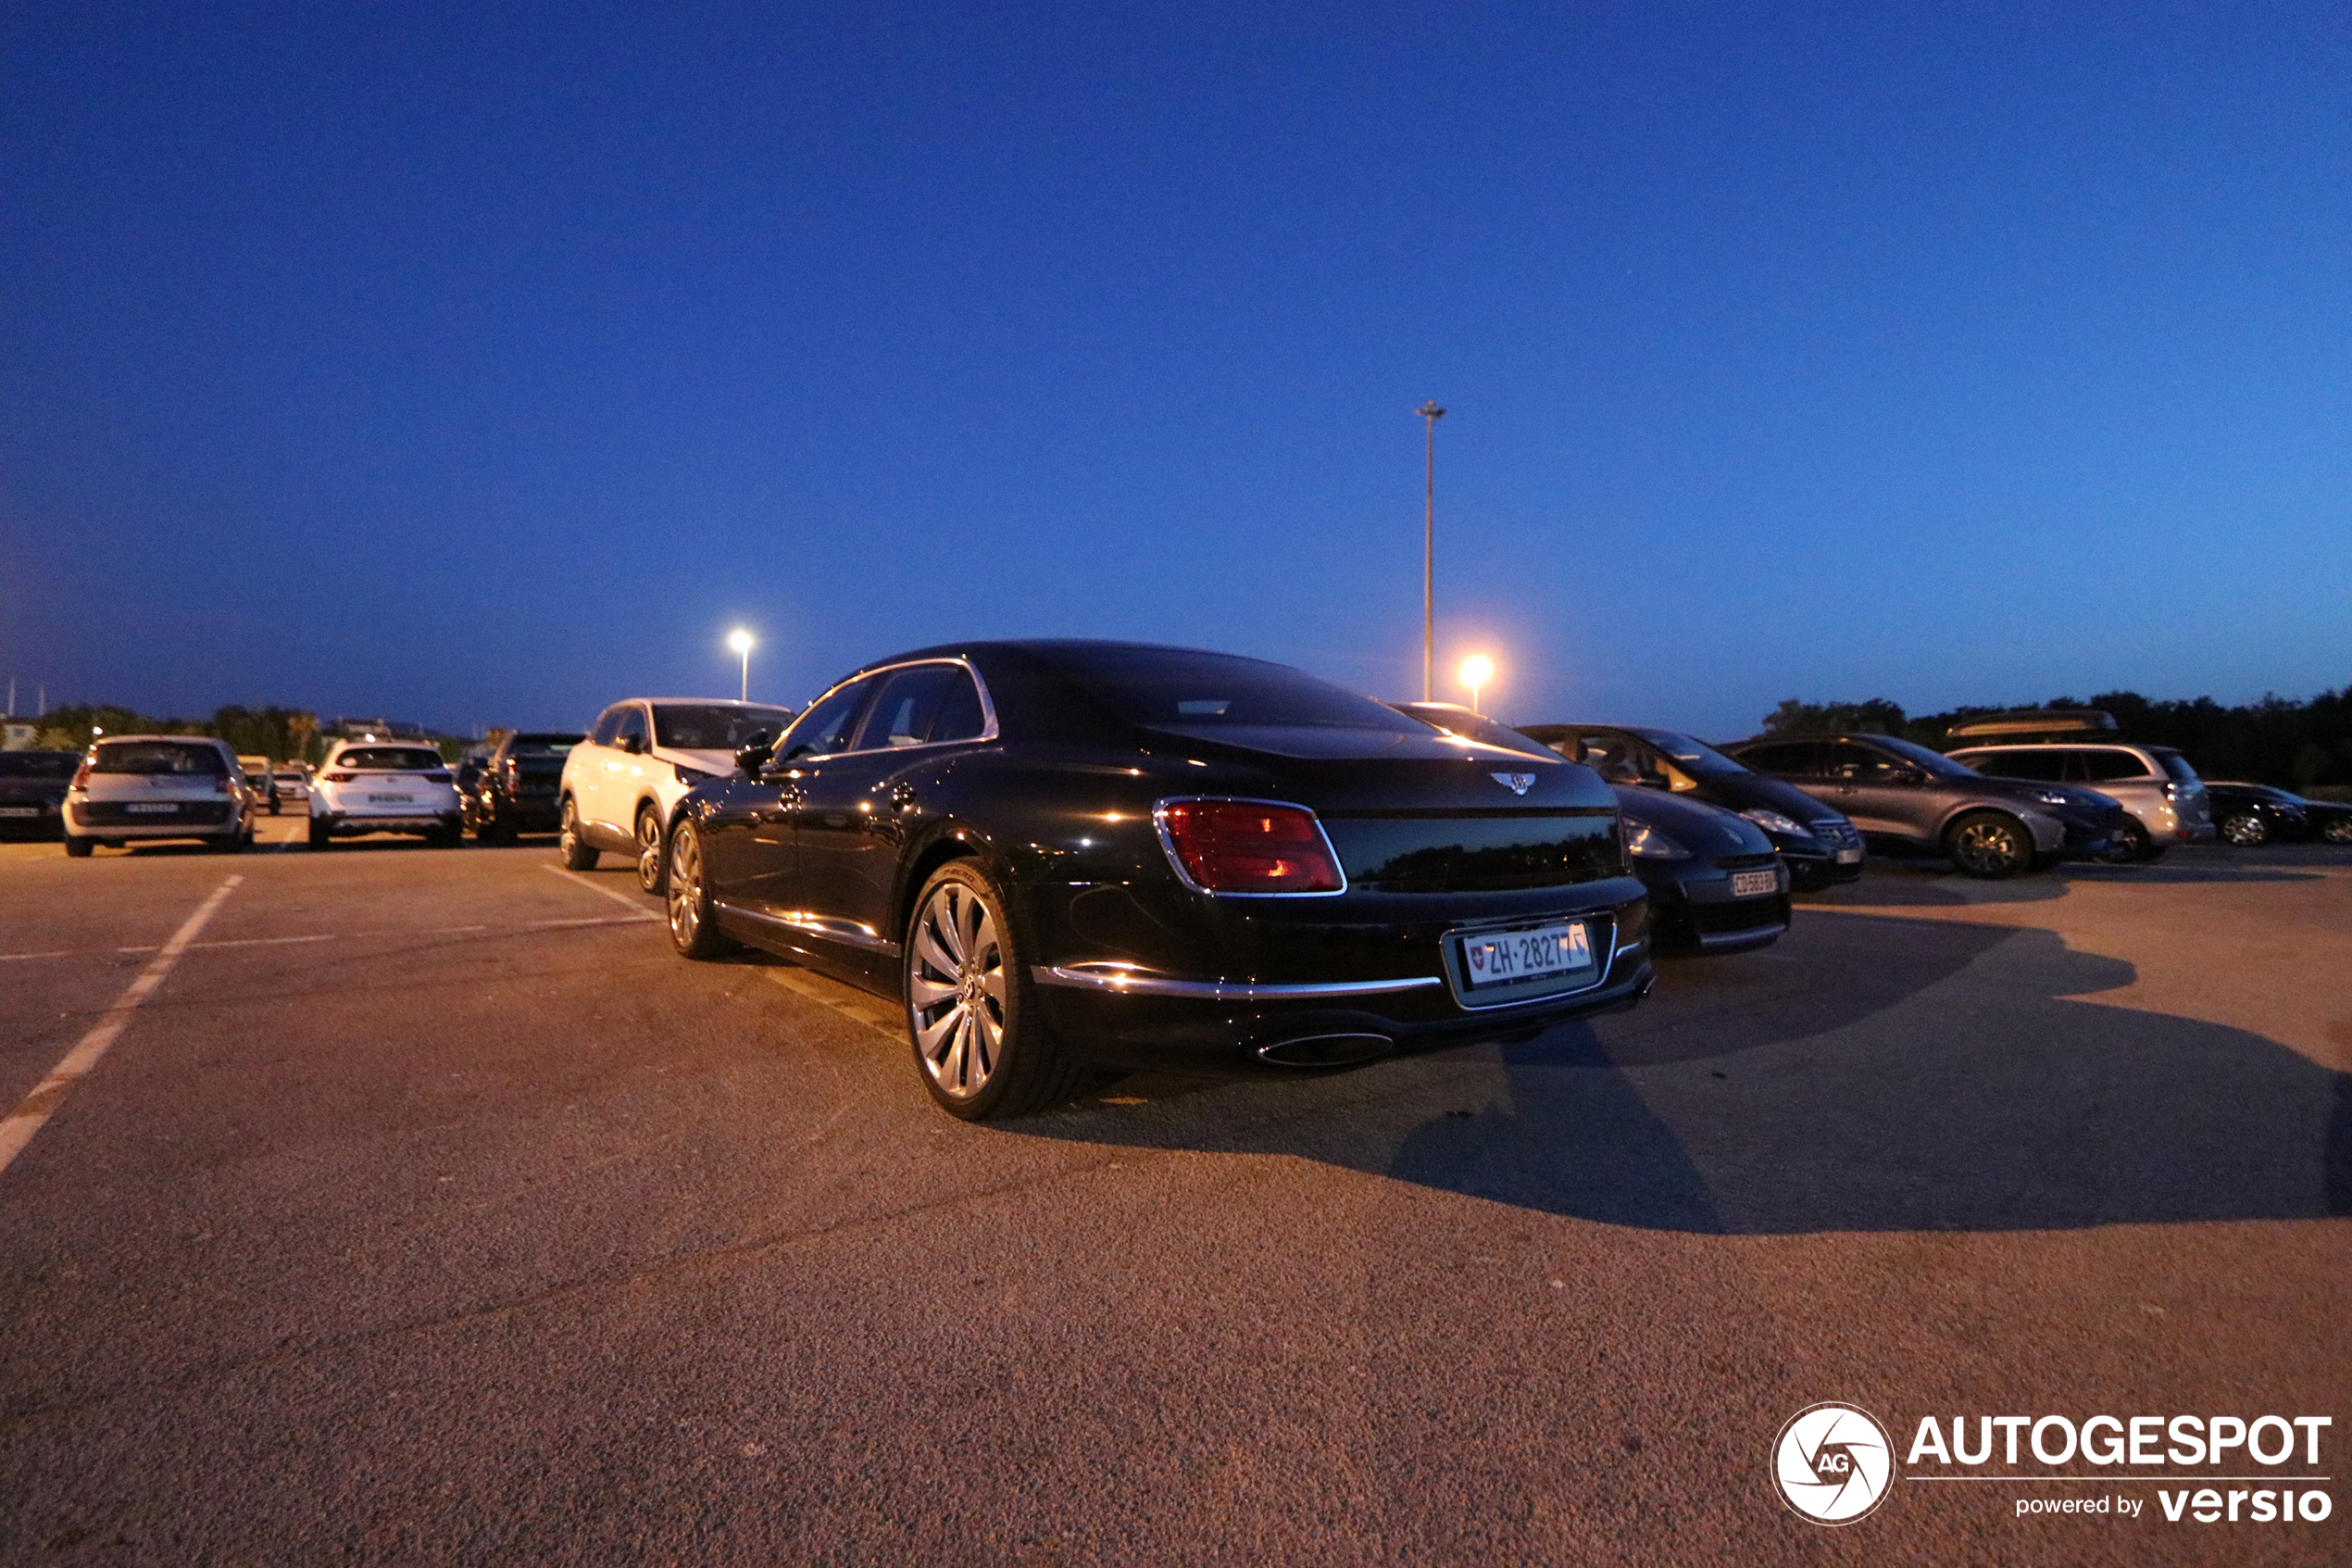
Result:
M1736 811L1764 830L1799 889L1825 889L1863 875L1863 835L1804 790L1766 778L1703 741L1635 724L1529 724L1536 741L1569 762L1628 764L1646 790L1689 795Z

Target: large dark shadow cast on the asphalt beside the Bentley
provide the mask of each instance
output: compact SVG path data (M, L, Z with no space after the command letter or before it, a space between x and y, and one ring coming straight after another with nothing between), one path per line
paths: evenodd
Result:
M2352 1213L2352 1079L2103 1006L2051 931L1818 912L1639 1011L1319 1081L1143 1081L1021 1131L1319 1159L1670 1232L2070 1229Z

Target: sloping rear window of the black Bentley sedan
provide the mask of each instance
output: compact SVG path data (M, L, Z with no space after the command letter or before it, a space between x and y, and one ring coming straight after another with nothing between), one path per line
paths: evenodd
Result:
M1044 654L1129 724L1171 729L1308 726L1428 736L1385 703L1305 670L1190 649L1063 646Z

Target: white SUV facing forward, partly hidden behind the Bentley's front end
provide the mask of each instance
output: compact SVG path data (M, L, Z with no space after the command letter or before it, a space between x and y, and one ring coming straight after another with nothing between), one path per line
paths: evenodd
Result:
M731 773L734 755L753 736L774 741L793 717L790 708L699 696L614 703L564 755L557 799L564 865L583 872L609 849L635 856L637 886L663 891L670 811L694 785Z

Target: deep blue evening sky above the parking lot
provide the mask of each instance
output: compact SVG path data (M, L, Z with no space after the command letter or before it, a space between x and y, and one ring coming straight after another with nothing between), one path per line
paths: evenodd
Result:
M1115 635L1748 733L2352 679L2340 5L35 5L0 679ZM1454 691L1446 691L1454 696Z

